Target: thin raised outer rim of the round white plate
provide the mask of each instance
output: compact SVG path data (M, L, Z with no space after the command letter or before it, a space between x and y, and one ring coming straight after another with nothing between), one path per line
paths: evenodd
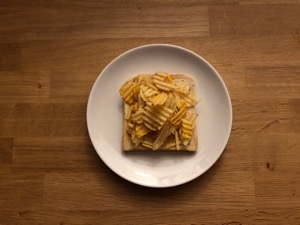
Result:
M91 96L92 94L95 92L95 88L97 86L97 84L100 82L101 78L103 77L103 74L105 74L105 72L111 67L111 65L117 61L118 59L124 57L126 54L129 54L133 51L137 51L137 50L140 50L142 48L149 48L149 47L170 47L170 48L175 48L175 49L178 49L178 50L181 50L181 51L184 51L184 52L188 52L189 54L192 54L194 55L195 57L199 58L200 60L202 60L203 62L205 62L205 64L217 75L217 78L218 80L221 82L222 86L223 86L223 89L225 91L225 94L226 94L226 99L227 99L227 103L229 104L229 126L228 126L228 130L227 130L227 136L225 137L225 141L224 143L222 143L222 150L220 151L219 155L216 155L216 158L215 160L205 169L205 170L202 170L201 173L197 173L196 175L194 176L191 176L189 179L186 179L186 180L183 180L183 181L180 181L180 182L176 182L176 183L171 183L171 184L160 184L160 185L155 185L155 184L148 184L148 183L143 183L143 182L139 182L135 179L131 179L130 177L126 177L124 176L123 174L120 174L116 169L114 169L110 164L109 162L107 162L103 157L101 157L101 154L99 153L100 150L98 150L96 148L96 145L95 145L95 141L93 140L92 138L92 135L91 135L91 128L90 128L90 125L89 125L89 112L90 112L90 108L91 108ZM134 48L131 48L123 53L121 53L120 55L118 55L117 57L115 57L112 61L110 61L103 69L102 71L99 73L99 75L97 76L96 80L94 81L93 83L93 86L90 90L90 93L88 95L88 101L87 101L87 111L86 111L86 122L87 122L87 128L88 128L88 134L89 134L89 138L92 142L92 145L94 147L94 150L96 151L98 157L100 157L100 159L102 160L102 162L104 162L104 164L109 168L111 169L115 174L117 174L118 176L120 176L121 178L131 182L131 183L134 183L134 184L137 184L137 185L140 185L140 186L144 186L144 187L149 187L149 188L168 188L168 187L175 187L175 186L179 186L179 185L183 185L183 184L186 184L198 177L200 177L201 175L203 175L204 173L206 173L220 158L220 156L223 154L223 152L225 151L226 149L226 145L229 141L229 138L230 138L230 134L231 134L231 130L232 130L232 121L233 121L233 112L232 112L232 102L231 102L231 98L230 98L230 94L229 94L229 91L227 89L227 86L224 82L224 80L222 79L221 75L218 73L218 71L206 60L204 59L202 56L198 55L197 53L187 49L187 48L184 48L184 47L181 47L181 46L178 46L178 45L173 45L173 44L163 44L163 43L158 43L158 44L145 44L145 45L140 45L140 46L137 46L137 47L134 47Z

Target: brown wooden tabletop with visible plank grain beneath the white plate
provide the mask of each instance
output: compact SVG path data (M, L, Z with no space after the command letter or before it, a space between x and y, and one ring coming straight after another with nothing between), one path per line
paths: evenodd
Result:
M233 127L204 175L168 189L98 157L86 106L104 67L169 43L224 79ZM0 1L0 224L300 224L298 0Z

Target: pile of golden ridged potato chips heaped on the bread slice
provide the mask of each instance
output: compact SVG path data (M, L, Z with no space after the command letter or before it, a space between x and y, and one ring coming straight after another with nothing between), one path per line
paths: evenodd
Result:
M125 82L119 92L125 101L125 129L136 149L180 150L188 145L195 129L199 100L193 84L165 72L140 74ZM191 79L191 78L189 78ZM173 138L170 138L170 137Z

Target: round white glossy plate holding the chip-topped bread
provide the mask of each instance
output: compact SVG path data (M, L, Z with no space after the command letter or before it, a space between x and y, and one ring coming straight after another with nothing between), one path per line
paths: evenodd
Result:
M196 110L196 153L122 152L123 103L119 88L139 73L165 71L192 76L201 102ZM217 71L199 55L166 44L145 45L114 59L98 76L89 96L87 125L104 163L119 176L148 187L186 183L207 171L220 157L232 124L231 101Z

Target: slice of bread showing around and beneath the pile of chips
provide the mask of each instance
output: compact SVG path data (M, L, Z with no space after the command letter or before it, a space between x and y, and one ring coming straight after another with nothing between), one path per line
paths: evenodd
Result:
M147 76L153 76L153 75L147 75ZM134 81L134 80L136 80L136 77L131 79L131 81ZM188 84L190 87L188 94L193 95L193 96L195 95L195 91L194 91L195 82L191 77L183 75L183 74L172 75L172 85L180 86L181 84ZM125 115L126 114L125 112L128 110L128 108L130 108L130 104L128 102L124 101L124 120L123 120L123 136L122 136L123 151L140 151L140 150L151 150L152 151L153 147L143 144L142 142L136 143L136 144L133 143L132 133L128 132L128 130L130 130L129 125L128 125L130 119L129 119L128 115ZM194 106L190 106L190 107L186 108L186 115L191 115L191 114L197 114ZM196 123L194 123L194 124L196 124ZM170 125L170 126L172 126L172 125ZM160 130L150 131L143 138L147 139L148 143L153 144L155 142L159 132L160 132ZM183 144L182 141L178 141L180 139L179 128L175 132L177 132L177 142L175 141L176 134L174 133L174 130L172 130L172 132L171 131L168 132L169 135L164 139L163 144L160 145L159 148L157 148L155 150L190 151L190 152L197 151L198 135L197 135L196 125L194 125L193 131L192 131L192 134L191 134L191 137L190 137L190 140L188 141L188 143ZM175 143L177 143L177 145Z

